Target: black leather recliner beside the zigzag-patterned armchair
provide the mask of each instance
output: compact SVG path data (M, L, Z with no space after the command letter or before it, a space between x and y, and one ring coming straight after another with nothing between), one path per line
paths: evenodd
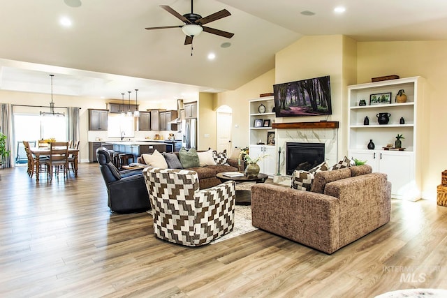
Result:
M96 149L96 159L107 186L108 206L117 213L136 213L151 209L142 169L118 171L104 147Z

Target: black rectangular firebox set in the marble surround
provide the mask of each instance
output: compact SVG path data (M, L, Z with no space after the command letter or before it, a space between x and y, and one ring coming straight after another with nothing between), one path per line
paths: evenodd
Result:
M310 170L324 161L323 143L286 142L286 174L294 170Z

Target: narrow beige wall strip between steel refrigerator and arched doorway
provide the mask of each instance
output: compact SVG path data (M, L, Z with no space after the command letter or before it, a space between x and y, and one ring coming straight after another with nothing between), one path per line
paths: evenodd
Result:
M198 150L216 149L216 94L200 93L198 96Z

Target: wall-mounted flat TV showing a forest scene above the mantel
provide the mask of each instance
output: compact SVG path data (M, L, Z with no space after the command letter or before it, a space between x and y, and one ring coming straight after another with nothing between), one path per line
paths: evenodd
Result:
M329 75L273 85L277 117L332 114Z

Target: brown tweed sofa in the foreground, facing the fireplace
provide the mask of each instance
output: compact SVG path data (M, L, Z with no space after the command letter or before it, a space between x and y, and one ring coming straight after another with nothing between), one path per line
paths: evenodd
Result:
M255 227L329 254L388 223L390 211L391 184L369 165L318 172L311 191L251 187Z

